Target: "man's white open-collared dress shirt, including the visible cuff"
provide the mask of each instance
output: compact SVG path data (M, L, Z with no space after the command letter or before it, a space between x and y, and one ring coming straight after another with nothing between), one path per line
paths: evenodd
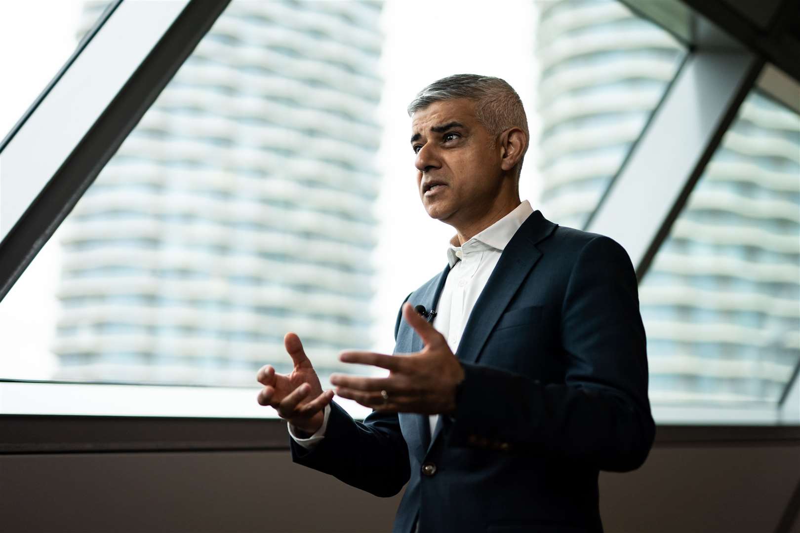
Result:
M526 200L463 245L458 246L458 236L450 239L450 247L447 249L450 272L447 274L442 295L439 296L436 306L434 328L442 333L453 353L458 349L466 320L469 319L478 296L481 295L486 281L498 264L500 254L506 249L514 233L517 233L522 223L533 212L530 202ZM325 436L328 416L330 416L330 405L325 408L322 427L308 439L294 436L291 426L289 434L302 447L314 447ZM438 422L438 415L431 415L429 421L432 434Z

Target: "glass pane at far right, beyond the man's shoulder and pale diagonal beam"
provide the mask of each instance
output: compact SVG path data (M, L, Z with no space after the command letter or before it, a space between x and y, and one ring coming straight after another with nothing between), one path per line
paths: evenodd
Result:
M800 361L797 113L750 93L639 296L654 404L776 406Z

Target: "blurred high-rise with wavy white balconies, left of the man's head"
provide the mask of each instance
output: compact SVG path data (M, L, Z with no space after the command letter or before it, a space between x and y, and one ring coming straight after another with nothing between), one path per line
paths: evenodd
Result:
M230 3L63 225L58 377L252 385L286 331L323 375L370 345L380 9Z

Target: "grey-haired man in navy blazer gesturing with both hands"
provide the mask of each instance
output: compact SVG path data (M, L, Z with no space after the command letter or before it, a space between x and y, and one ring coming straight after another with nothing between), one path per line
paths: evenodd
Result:
M407 483L396 533L602 531L598 471L639 467L654 437L630 259L520 202L529 135L506 82L443 78L409 114L422 204L456 235L402 305L398 355L340 355L390 370L330 377L374 412L331 402L294 333L294 372L262 368L258 402L294 461L379 496Z

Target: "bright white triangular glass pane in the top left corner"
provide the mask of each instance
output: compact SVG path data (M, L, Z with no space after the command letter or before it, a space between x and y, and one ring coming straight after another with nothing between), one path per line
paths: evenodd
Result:
M24 50L0 54L2 77L14 80L14 83L3 83L0 140L70 58L80 38L94 26L107 3L84 0L0 2L0 50ZM45 6L47 16L42 17ZM76 27L82 28L78 34Z

